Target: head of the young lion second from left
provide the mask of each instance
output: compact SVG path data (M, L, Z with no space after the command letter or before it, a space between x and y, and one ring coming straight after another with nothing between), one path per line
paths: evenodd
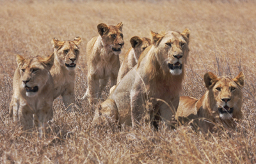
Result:
M67 70L74 70L79 58L79 45L81 38L77 36L73 41L59 41L56 38L52 40L56 61Z

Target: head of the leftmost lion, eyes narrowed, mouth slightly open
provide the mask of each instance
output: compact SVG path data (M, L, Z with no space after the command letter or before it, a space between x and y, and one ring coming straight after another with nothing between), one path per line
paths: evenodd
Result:
M36 96L40 93L51 77L50 69L54 63L54 54L49 57L34 57L25 59L16 57L20 73L20 90L26 91L26 96Z

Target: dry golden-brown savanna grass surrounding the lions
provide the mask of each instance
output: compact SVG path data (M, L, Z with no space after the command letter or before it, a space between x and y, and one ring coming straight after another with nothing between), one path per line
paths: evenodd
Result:
M0 1L0 163L256 163L255 1ZM125 48L132 36L150 30L191 30L190 56L182 95L200 98L207 71L246 76L243 114L236 131L208 137L188 126L153 130L92 128L95 106L81 101L86 91L86 43L97 24L124 23ZM16 54L48 56L52 38L81 36L76 68L76 112L54 101L51 129L44 138L24 135L8 116ZM108 96L109 87L102 96Z

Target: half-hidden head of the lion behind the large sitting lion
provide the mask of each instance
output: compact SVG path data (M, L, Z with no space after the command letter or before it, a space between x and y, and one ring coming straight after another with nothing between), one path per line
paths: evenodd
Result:
M136 63L138 63L140 54L143 52L143 50L145 50L145 48L151 45L151 40L148 38L133 36L130 42L134 50L134 59L136 59Z

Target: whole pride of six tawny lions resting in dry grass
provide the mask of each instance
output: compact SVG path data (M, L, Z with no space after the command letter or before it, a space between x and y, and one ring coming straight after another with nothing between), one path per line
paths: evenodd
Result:
M143 120L156 128L193 123L195 130L203 133L216 130L216 124L236 126L243 116L242 72L234 79L205 73L207 91L200 100L180 97L189 56L189 29L182 33L151 31L152 40L133 36L120 66L122 27L122 22L116 26L99 24L99 36L86 45L88 88L82 99L88 99L90 105L97 103L111 80L107 100L95 109L93 126L124 124L134 128ZM51 56L26 59L17 55L10 116L24 130L34 126L44 130L53 117L52 102L60 95L67 112L72 112L81 41L80 37L72 41L53 38Z

